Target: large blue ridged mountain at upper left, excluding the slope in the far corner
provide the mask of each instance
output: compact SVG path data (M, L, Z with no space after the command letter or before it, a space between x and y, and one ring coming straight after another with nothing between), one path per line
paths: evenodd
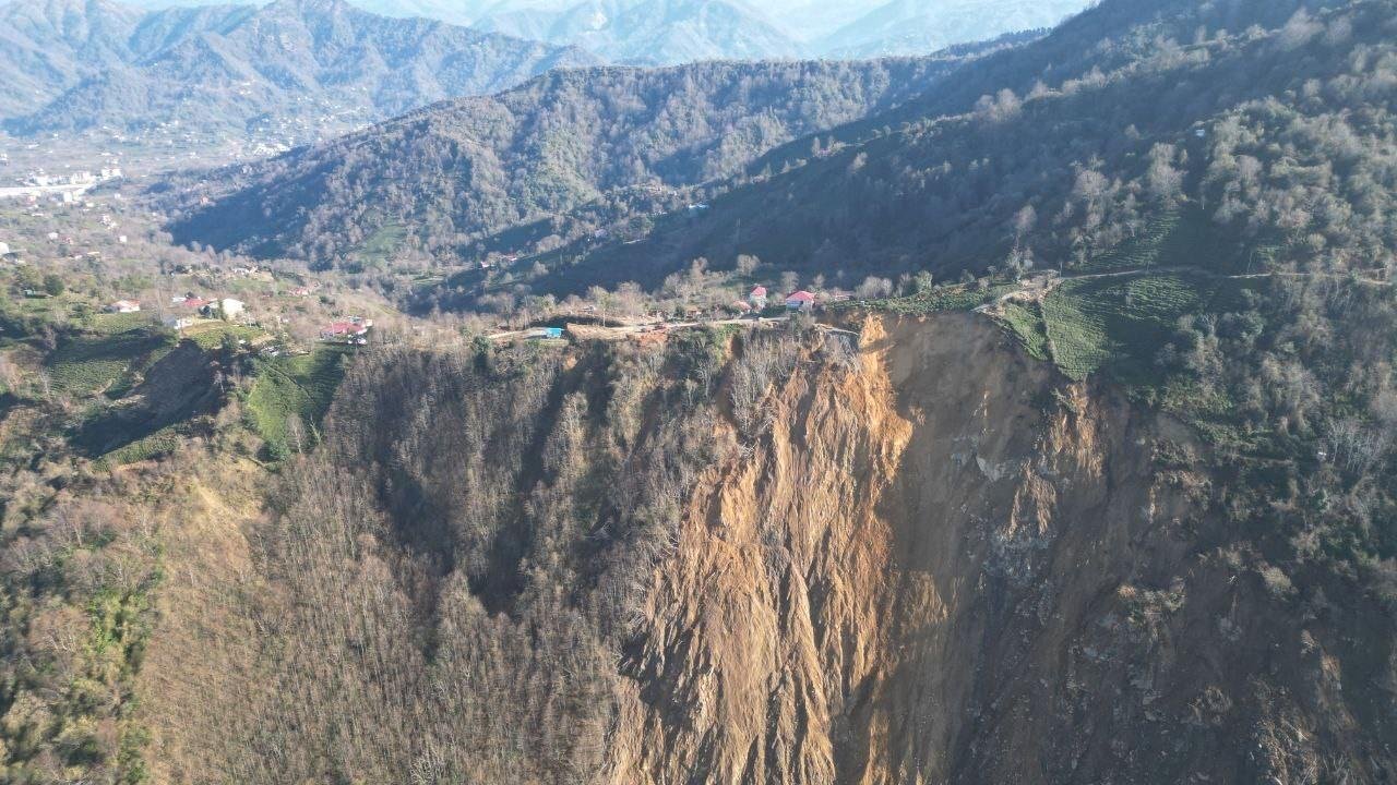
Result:
M218 24L205 20L217 17ZM133 56L6 123L14 134L182 123L246 130L302 123L349 129L444 98L493 92L555 67L595 63L443 22L390 20L332 0L251 11L163 11L133 35ZM137 46L148 46L136 56Z

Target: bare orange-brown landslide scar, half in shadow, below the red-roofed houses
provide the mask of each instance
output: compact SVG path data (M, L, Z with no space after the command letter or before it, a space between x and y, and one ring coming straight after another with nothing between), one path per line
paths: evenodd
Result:
M1199 450L1182 427L974 317L870 321L859 373L773 406L654 573L613 782L1389 771L1390 636L1345 643L1241 568L1208 479L1160 460Z

